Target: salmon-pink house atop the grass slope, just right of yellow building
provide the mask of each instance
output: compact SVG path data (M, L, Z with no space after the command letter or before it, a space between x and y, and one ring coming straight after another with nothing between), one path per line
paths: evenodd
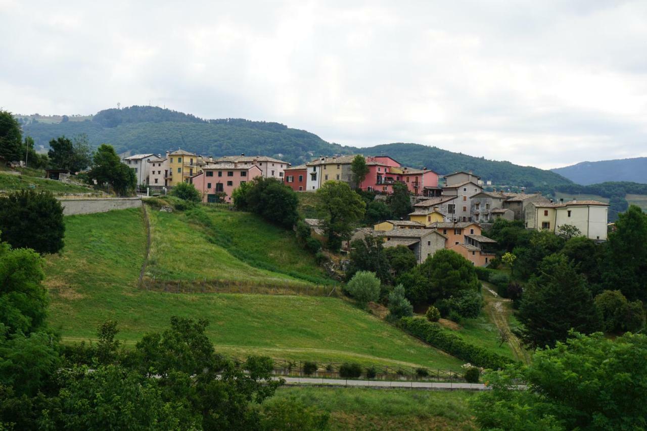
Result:
M232 192L243 182L261 177L258 166L236 166L234 163L208 164L192 177L193 186L203 196L203 202L232 203Z

